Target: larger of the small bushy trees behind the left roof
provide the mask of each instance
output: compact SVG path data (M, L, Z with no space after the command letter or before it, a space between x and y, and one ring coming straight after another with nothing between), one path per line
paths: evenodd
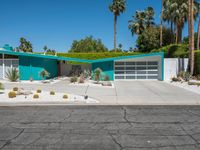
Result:
M33 46L30 41L27 41L25 38L20 38L20 45L17 48L18 51L22 52L33 52Z

